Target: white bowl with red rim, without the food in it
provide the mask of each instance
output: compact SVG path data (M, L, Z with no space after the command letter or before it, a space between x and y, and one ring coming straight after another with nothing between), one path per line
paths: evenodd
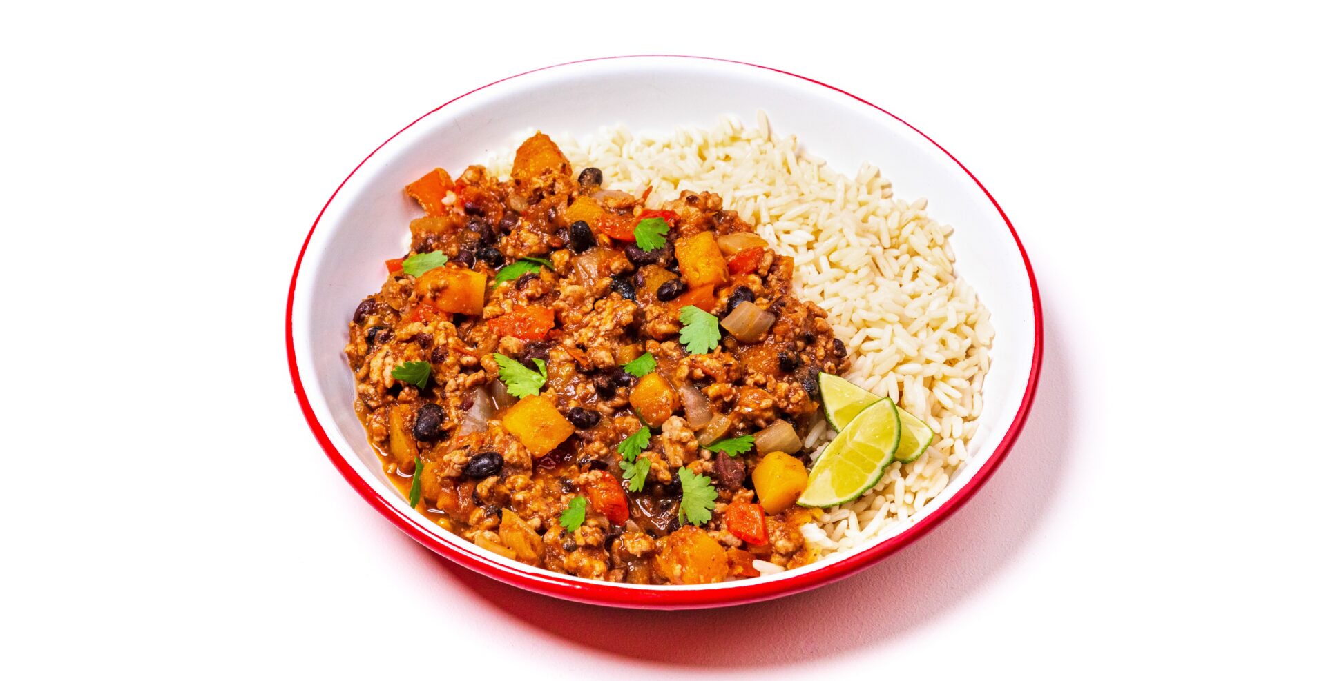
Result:
M708 586L597 582L529 567L452 535L415 513L387 481L355 417L342 354L351 311L382 285L382 262L408 249L418 208L402 188L434 167L464 168L530 129L585 135L606 125L668 131L713 126L721 115L794 132L842 172L873 162L898 196L930 199L953 225L959 273L996 329L984 411L969 460L923 513L842 556L747 580ZM1041 310L1036 278L1012 223L981 183L935 140L884 109L801 76L703 57L607 57L549 66L465 93L391 135L332 193L290 278L285 319L290 379L309 428L346 481L428 549L493 579L550 596L631 608L696 608L796 594L863 570L916 541L991 477L1013 445L1036 392Z

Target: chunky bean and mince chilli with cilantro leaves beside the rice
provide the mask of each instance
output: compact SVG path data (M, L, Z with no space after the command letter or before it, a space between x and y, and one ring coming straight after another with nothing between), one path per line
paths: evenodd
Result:
M406 187L424 216L346 346L386 472L442 527L556 572L697 584L814 560L798 527L818 511L793 499L842 343L717 195L647 209L601 183L536 134L509 180Z

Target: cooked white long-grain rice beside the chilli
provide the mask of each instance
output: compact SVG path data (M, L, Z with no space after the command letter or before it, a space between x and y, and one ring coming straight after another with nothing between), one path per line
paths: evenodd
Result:
M774 135L764 113L756 126L727 118L712 130L633 135L617 127L554 139L573 167L601 168L605 187L639 195L652 184L651 207L682 189L721 195L725 208L794 258L796 293L829 313L847 346L846 378L935 431L920 458L895 461L873 490L802 526L822 556L891 534L943 492L976 432L994 329L976 291L953 272L952 228L926 215L926 199L895 199L874 166L847 178L798 154L797 138ZM488 167L507 176L512 155ZM821 421L806 444L818 456L834 435ZM761 574L782 570L760 563Z

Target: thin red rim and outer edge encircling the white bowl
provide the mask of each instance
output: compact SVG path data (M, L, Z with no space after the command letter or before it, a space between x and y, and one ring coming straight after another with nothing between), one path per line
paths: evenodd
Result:
M709 590L705 588L679 590L668 587L627 588L610 582L589 583L589 582L574 580L569 578L562 578L553 572L546 572L546 574L524 572L512 568L511 566L499 563L496 560L491 560L483 555L464 552L453 546L447 545L446 542L439 541L431 533L424 531L418 523L418 521L412 517L412 514L403 513L395 506L392 506L391 502L389 502L389 499L382 497L375 489L373 489L366 481L363 481L355 473L354 468L350 465L346 457L341 454L341 452L335 448L335 445L332 444L332 440L328 437L326 431L324 431L322 424L318 423L317 416L313 413L313 407L309 404L309 397L304 391L304 382L300 379L300 368L294 355L294 333L292 326L292 317L294 309L294 288L300 280L300 265L304 262L304 253L305 250L308 250L309 241L313 238L313 231L317 229L318 221L322 220L322 215L326 212L328 205L330 205L332 201L335 199L337 193L341 192L341 188L345 187L345 183L349 182L350 178L354 176L354 174L358 172L358 170L370 158L373 158L374 154L377 154L379 150L382 150L382 147L385 147L387 143L395 139L396 135L404 132L411 126L427 118L428 115L440 111L447 105L451 105L452 102L463 97L483 90L484 87L491 87L493 85L509 81L512 78L518 78L521 76L548 69L556 69L558 66L568 66L572 64L583 64L583 62L602 61L602 60L634 58L634 57L679 57L679 58L720 61L727 64L753 66L757 69L764 69L801 78L802 81L813 82L822 87L827 87L837 93L842 93L847 97L851 97L853 99L857 99L858 102L862 102L878 110L879 113L891 117L899 123L910 127L916 134L926 138L931 144L935 144L935 147L943 151L944 155L947 155L949 159L953 160L953 163L957 163L957 166L963 168L963 172L965 172L967 176L971 178L972 182L975 182L976 185L981 188L981 191L985 193L985 197L989 199L994 209L998 211L1000 217L1004 219L1004 224L1008 225L1009 233L1013 235L1013 241L1017 244L1017 249L1022 256L1022 264L1026 268L1026 280L1032 289L1032 309L1033 309L1034 327L1036 327L1036 334L1034 334L1036 340L1034 340L1034 347L1032 350L1032 368L1028 376L1026 390L1022 393L1022 403L1021 405L1018 405L1017 413L1013 416L1013 423L1009 425L1009 429L1004 435L1004 439L1000 440L998 445L994 448L994 452L991 453L985 464L979 470L976 470L976 473L972 476L972 480L968 481L968 484L963 489L957 490L953 494L953 497L949 498L945 503L935 509L934 513L918 521L916 525L908 527L896 537L891 537L875 546L871 546L861 552L851 554L841 560L826 563L823 567L819 567L809 572L777 580L754 579L749 580L749 583L737 583L736 586L728 586L724 588L709 588ZM867 102L866 99L862 99L861 97L857 97L839 87L834 87L831 85L819 82L814 78L806 78L805 76L798 76L796 73L789 73L769 66L761 66L758 64L748 64L744 61L733 61L733 60L720 60L715 57L695 57L688 54L631 54L619 57L598 57L591 60L578 60L566 64L544 66L541 69L533 69L524 73L518 73L516 76L509 76L500 81L493 81L488 85L484 85L483 87L476 87L465 94L461 94L460 97L448 101L447 103L439 106L438 109L434 109L432 111L428 111L427 114L416 118L408 126L400 129L400 131L398 131L395 135L387 138L386 142L378 144L378 147L374 148L371 154L365 156L363 160L361 160L359 164L355 166L353 171L350 171L350 175L346 175L345 180L341 180L341 184L337 187L337 189L332 192L332 197L329 197L328 203L322 205L322 211L318 211L318 217L313 221L313 227L309 228L309 235L304 238L304 245L300 248L300 257L294 261L294 273L290 276L290 289L289 293L286 294L286 303L285 303L285 352L290 366L290 382L294 384L294 393L300 400L300 408L304 411L304 417L309 423L309 429L313 431L313 436L317 439L318 444L322 445L322 450L326 452L328 458L332 460L332 462L341 472L341 474L350 484L350 486L353 486L359 493L359 496L369 502L369 505L377 509L378 513L381 513L392 523L395 523L396 527L399 527L407 535L414 538L416 542L427 546L428 549L432 549L438 554L451 560L455 560L456 563L469 570L473 570L479 574L497 579L507 584L521 587L538 594L545 594L549 596L557 596L581 603L593 603L599 605L615 605L627 608L660 608L660 609L703 608L715 605L735 605L741 603L754 603L758 600L788 596L792 594L798 594L806 590L821 587L823 584L829 584L830 582L837 582L838 579L853 575L866 567L875 564L884 556L900 550L902 547L910 545L911 542L915 542L916 539L924 537L926 533L935 529L940 522L952 515L953 511L956 511L964 503L967 503L967 501L971 499L972 496L975 496L976 492L981 489L985 481L989 480L989 477L1004 461L1004 457L1008 456L1009 449L1013 446L1013 443L1017 440L1018 433L1022 431L1022 424L1026 421L1026 416L1032 408L1032 401L1036 397L1036 386L1041 375L1042 347L1044 347L1044 327L1041 323L1041 294L1036 286L1036 274L1032 272L1032 261L1026 257L1026 249L1022 248L1022 241L1018 238L1017 231L1013 229L1013 223L1008 219L1008 215L1004 213L1004 208L1001 208L998 201L996 201L994 197L991 196L991 192L985 188L985 185L981 184L981 182L976 179L975 175L972 175L972 171L967 170L967 166L963 166L963 163L957 160L952 154L949 154L948 150L945 150L937 142L931 139L930 135L922 132L920 130L916 130L915 126L903 121L902 118L890 114L888 111L880 109L879 106L875 106L871 102Z

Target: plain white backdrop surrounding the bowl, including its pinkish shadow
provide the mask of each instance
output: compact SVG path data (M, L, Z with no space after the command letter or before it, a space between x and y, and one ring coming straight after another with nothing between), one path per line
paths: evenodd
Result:
M448 5L5 9L0 674L1322 677L1309 4ZM1005 465L810 594L630 612L468 574L358 498L292 393L289 273L359 159L493 79L647 52L900 115L1040 277Z

